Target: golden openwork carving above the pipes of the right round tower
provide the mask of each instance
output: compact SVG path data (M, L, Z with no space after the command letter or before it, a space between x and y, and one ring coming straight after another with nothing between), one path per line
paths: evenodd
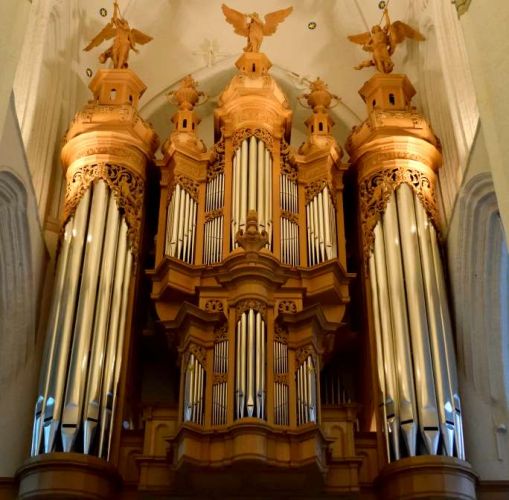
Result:
M421 201L428 217L440 234L434 179L409 168L391 168L376 172L363 179L359 186L361 226L363 234L364 260L367 264L375 242L374 229L382 218L391 194L402 184L408 184Z

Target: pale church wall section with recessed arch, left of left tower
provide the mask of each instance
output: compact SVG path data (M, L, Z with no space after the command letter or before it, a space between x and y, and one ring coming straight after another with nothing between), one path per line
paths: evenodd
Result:
M42 337L47 252L11 99L0 140L0 477L13 476L30 444Z

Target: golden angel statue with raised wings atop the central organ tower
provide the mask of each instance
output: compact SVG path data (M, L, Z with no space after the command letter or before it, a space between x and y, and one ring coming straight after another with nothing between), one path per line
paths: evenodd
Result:
M293 7L267 14L265 22L260 19L256 12L253 12L253 14L243 14L237 10L230 9L225 4L223 4L222 9L226 20L235 28L235 33L247 37L247 45L244 47L244 52L259 52L263 37L273 35L278 24L286 19L290 12L292 12Z

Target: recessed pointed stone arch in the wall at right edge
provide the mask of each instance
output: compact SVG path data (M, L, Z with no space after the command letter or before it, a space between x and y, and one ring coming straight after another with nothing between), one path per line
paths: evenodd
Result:
M459 229L450 261L459 369L486 403L505 407L509 257L490 174L476 175L465 185L457 209Z

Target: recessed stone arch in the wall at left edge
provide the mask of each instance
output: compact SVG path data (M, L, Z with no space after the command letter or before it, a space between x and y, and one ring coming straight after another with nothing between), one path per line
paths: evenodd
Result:
M24 365L35 343L31 259L27 192L0 169L0 385Z

